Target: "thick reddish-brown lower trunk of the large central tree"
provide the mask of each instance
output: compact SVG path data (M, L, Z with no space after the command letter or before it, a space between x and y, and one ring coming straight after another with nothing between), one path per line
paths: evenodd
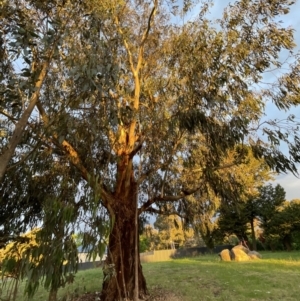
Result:
M126 188L126 189L125 189ZM124 190L125 189L125 190ZM135 239L137 189L131 180L114 202L108 257L103 268L102 301L132 300L135 289ZM147 294L146 280L138 258L139 297Z

